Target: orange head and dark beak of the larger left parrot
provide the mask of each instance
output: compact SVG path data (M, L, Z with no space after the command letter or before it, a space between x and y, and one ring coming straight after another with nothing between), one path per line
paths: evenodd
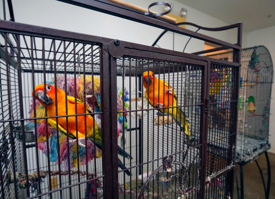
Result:
M44 94L44 91L46 91L46 96ZM55 92L54 92L54 86L46 84L46 90L44 90L44 84L37 85L34 88L35 98L38 99L38 101L45 106L51 105L53 100L55 100ZM33 93L32 93L33 95Z

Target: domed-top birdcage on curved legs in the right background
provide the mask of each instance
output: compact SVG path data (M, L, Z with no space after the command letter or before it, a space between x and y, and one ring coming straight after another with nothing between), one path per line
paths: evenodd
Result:
M231 61L232 51L210 55L212 58ZM243 166L255 160L263 178L257 158L265 153L267 159L267 184L263 180L265 196L269 198L270 163L268 153L270 99L273 83L273 64L265 46L242 49L240 67L240 91L238 106L238 130L236 162L240 165L240 198L244 198ZM239 193L239 192L238 192Z

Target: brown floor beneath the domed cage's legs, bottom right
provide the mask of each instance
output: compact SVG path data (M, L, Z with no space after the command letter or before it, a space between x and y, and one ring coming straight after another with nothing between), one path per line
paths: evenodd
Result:
M268 153L271 165L271 187L270 199L275 199L275 154ZM267 180L266 157L264 154L259 156L258 163L263 169L265 179ZM239 166L237 165L237 174L239 174ZM244 198L245 199L264 199L264 187L260 172L257 168L256 162L252 161L243 167L244 175ZM237 199L236 181L234 182L234 199Z

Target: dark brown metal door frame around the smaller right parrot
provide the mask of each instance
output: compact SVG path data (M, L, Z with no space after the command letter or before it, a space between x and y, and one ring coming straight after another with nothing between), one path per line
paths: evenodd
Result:
M113 42L113 41L112 41ZM113 43L110 42L109 45L113 45ZM120 44L122 42L120 41ZM123 45L123 43L122 43ZM201 67L201 71L202 71L202 77L201 77L201 97L200 97L200 101L201 101L201 108L200 108L200 142L198 144L198 146L201 148L200 150L200 169L201 170L205 170L204 166L205 166L205 161L206 159L204 158L205 154L206 154L206 147L205 144L207 144L207 142L205 142L205 138L207 137L207 128L205 128L208 123L206 120L206 116L207 113L205 112L206 109L206 98L207 98L207 92L209 92L209 88L208 88L208 78L207 76L210 75L210 73L208 72L208 70L210 70L210 67L208 67L208 64L210 63L210 61L205 61L205 60L198 60L198 59L192 59L192 58L188 58L188 54L185 54L185 57L180 57L180 56L175 56L175 54L173 53L174 51L165 51L165 54L162 53L154 53L152 51L148 52L148 51L144 51L143 49L143 45L139 45L139 44L134 44L134 49L128 49L128 48L117 48L117 50L121 51L123 50L124 53L121 53L120 56L118 56L117 58L120 57L130 57L130 58L137 58L137 59L151 59L151 60L156 60L156 61L163 61L163 62L177 62L177 63L182 63L182 64L191 64L191 65L197 65L199 67ZM117 65L116 63L114 63L113 61L116 59L116 55L117 52L114 53L114 51L112 51L113 49L110 50L109 48L109 53L110 53L110 67L112 68L111 71L111 76L110 79L112 79L112 84L116 85L116 76L117 76ZM114 55L115 57L112 57L112 55ZM119 53L118 53L119 54ZM190 57L192 57L192 55L190 55ZM134 70L134 69L133 69ZM115 71L115 72L114 72ZM143 73L143 71L142 71ZM142 75L140 75L141 77ZM114 89L113 89L114 90ZM116 92L112 92L112 97L111 98L116 98ZM117 111L115 111L115 113L113 112L113 108L112 108L112 114L114 114L113 116L117 116ZM112 117L113 117L112 116ZM116 119L116 118L114 118ZM113 128L113 127L112 127ZM112 129L112 135L116 135L117 134L117 129L113 128ZM206 140L207 141L207 140ZM116 143L115 143L116 144ZM112 154L114 157L113 158L117 158L117 153ZM204 160L205 159L205 160ZM114 169L117 169L117 164L113 164L112 165ZM114 183L118 183L118 176L117 176L117 172L115 173L115 175L113 176L115 181ZM202 196L202 190L204 190L204 185L205 185L205 174L204 172L200 173L200 177L198 177L199 181L198 184L202 185L200 186L200 190L197 192L198 196L200 198L203 198ZM118 190L118 184L113 187L117 187ZM118 191L114 191L113 192L113 198L118 198Z

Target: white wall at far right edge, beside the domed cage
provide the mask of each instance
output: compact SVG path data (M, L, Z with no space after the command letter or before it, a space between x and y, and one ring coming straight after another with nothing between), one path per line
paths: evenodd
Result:
M264 45L269 50L273 67L275 66L275 26L255 30L247 33L247 46ZM273 84L271 91L271 108L270 108L270 137L271 149L269 152L275 153L275 86Z

